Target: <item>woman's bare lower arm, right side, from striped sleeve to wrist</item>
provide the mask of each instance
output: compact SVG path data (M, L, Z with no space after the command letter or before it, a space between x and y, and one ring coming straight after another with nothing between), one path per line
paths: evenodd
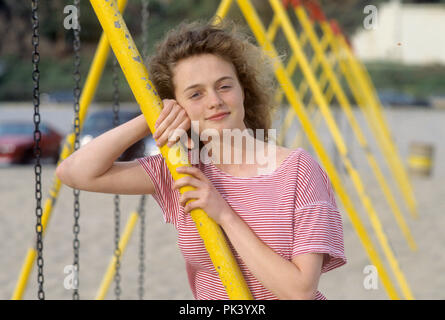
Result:
M324 254L302 254L288 261L262 242L231 209L222 216L221 227L250 272L264 287L278 299L315 298Z

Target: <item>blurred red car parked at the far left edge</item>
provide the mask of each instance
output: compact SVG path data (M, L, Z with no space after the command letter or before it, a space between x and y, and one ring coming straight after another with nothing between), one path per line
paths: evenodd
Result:
M45 123L40 123L42 162L57 163L63 136ZM0 164L32 163L34 160L34 123L0 122Z

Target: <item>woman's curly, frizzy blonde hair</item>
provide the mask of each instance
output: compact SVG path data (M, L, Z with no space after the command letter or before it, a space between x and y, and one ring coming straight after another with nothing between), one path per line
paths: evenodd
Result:
M150 79L161 99L175 99L173 68L182 59L199 54L214 54L235 67L244 90L244 124L252 129L267 129L272 124L276 84L271 60L261 48L252 44L245 32L233 22L218 21L181 23L170 30L147 59Z

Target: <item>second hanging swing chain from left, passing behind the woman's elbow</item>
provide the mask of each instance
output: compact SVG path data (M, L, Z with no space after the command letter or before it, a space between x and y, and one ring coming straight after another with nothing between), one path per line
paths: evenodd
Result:
M80 13L80 5L79 0L74 0L74 6L77 8L77 19L79 19ZM79 119L79 100L80 100L80 21L77 21L77 29L73 29L74 40L73 40L73 48L74 48L74 133L75 133L75 141L74 141L74 151L78 150L80 147L79 143L79 134L80 134L80 119ZM79 194L80 190L73 189L74 194L74 240L73 240L73 249L74 249L74 291L73 291L73 300L79 300L79 217L80 217L80 203L79 203Z

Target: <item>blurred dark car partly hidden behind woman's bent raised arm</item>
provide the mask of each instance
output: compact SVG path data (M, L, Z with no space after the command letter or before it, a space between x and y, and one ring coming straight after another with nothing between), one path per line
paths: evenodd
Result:
M130 121L141 113L136 110L120 110L119 124ZM114 113L112 110L96 110L89 114L85 120L82 132L79 137L80 146L84 146L95 137L102 133L113 129L114 127ZM119 157L119 161L130 161L136 158L141 158L148 155L155 155L160 153L156 146L156 141L150 134L142 140L139 140Z

